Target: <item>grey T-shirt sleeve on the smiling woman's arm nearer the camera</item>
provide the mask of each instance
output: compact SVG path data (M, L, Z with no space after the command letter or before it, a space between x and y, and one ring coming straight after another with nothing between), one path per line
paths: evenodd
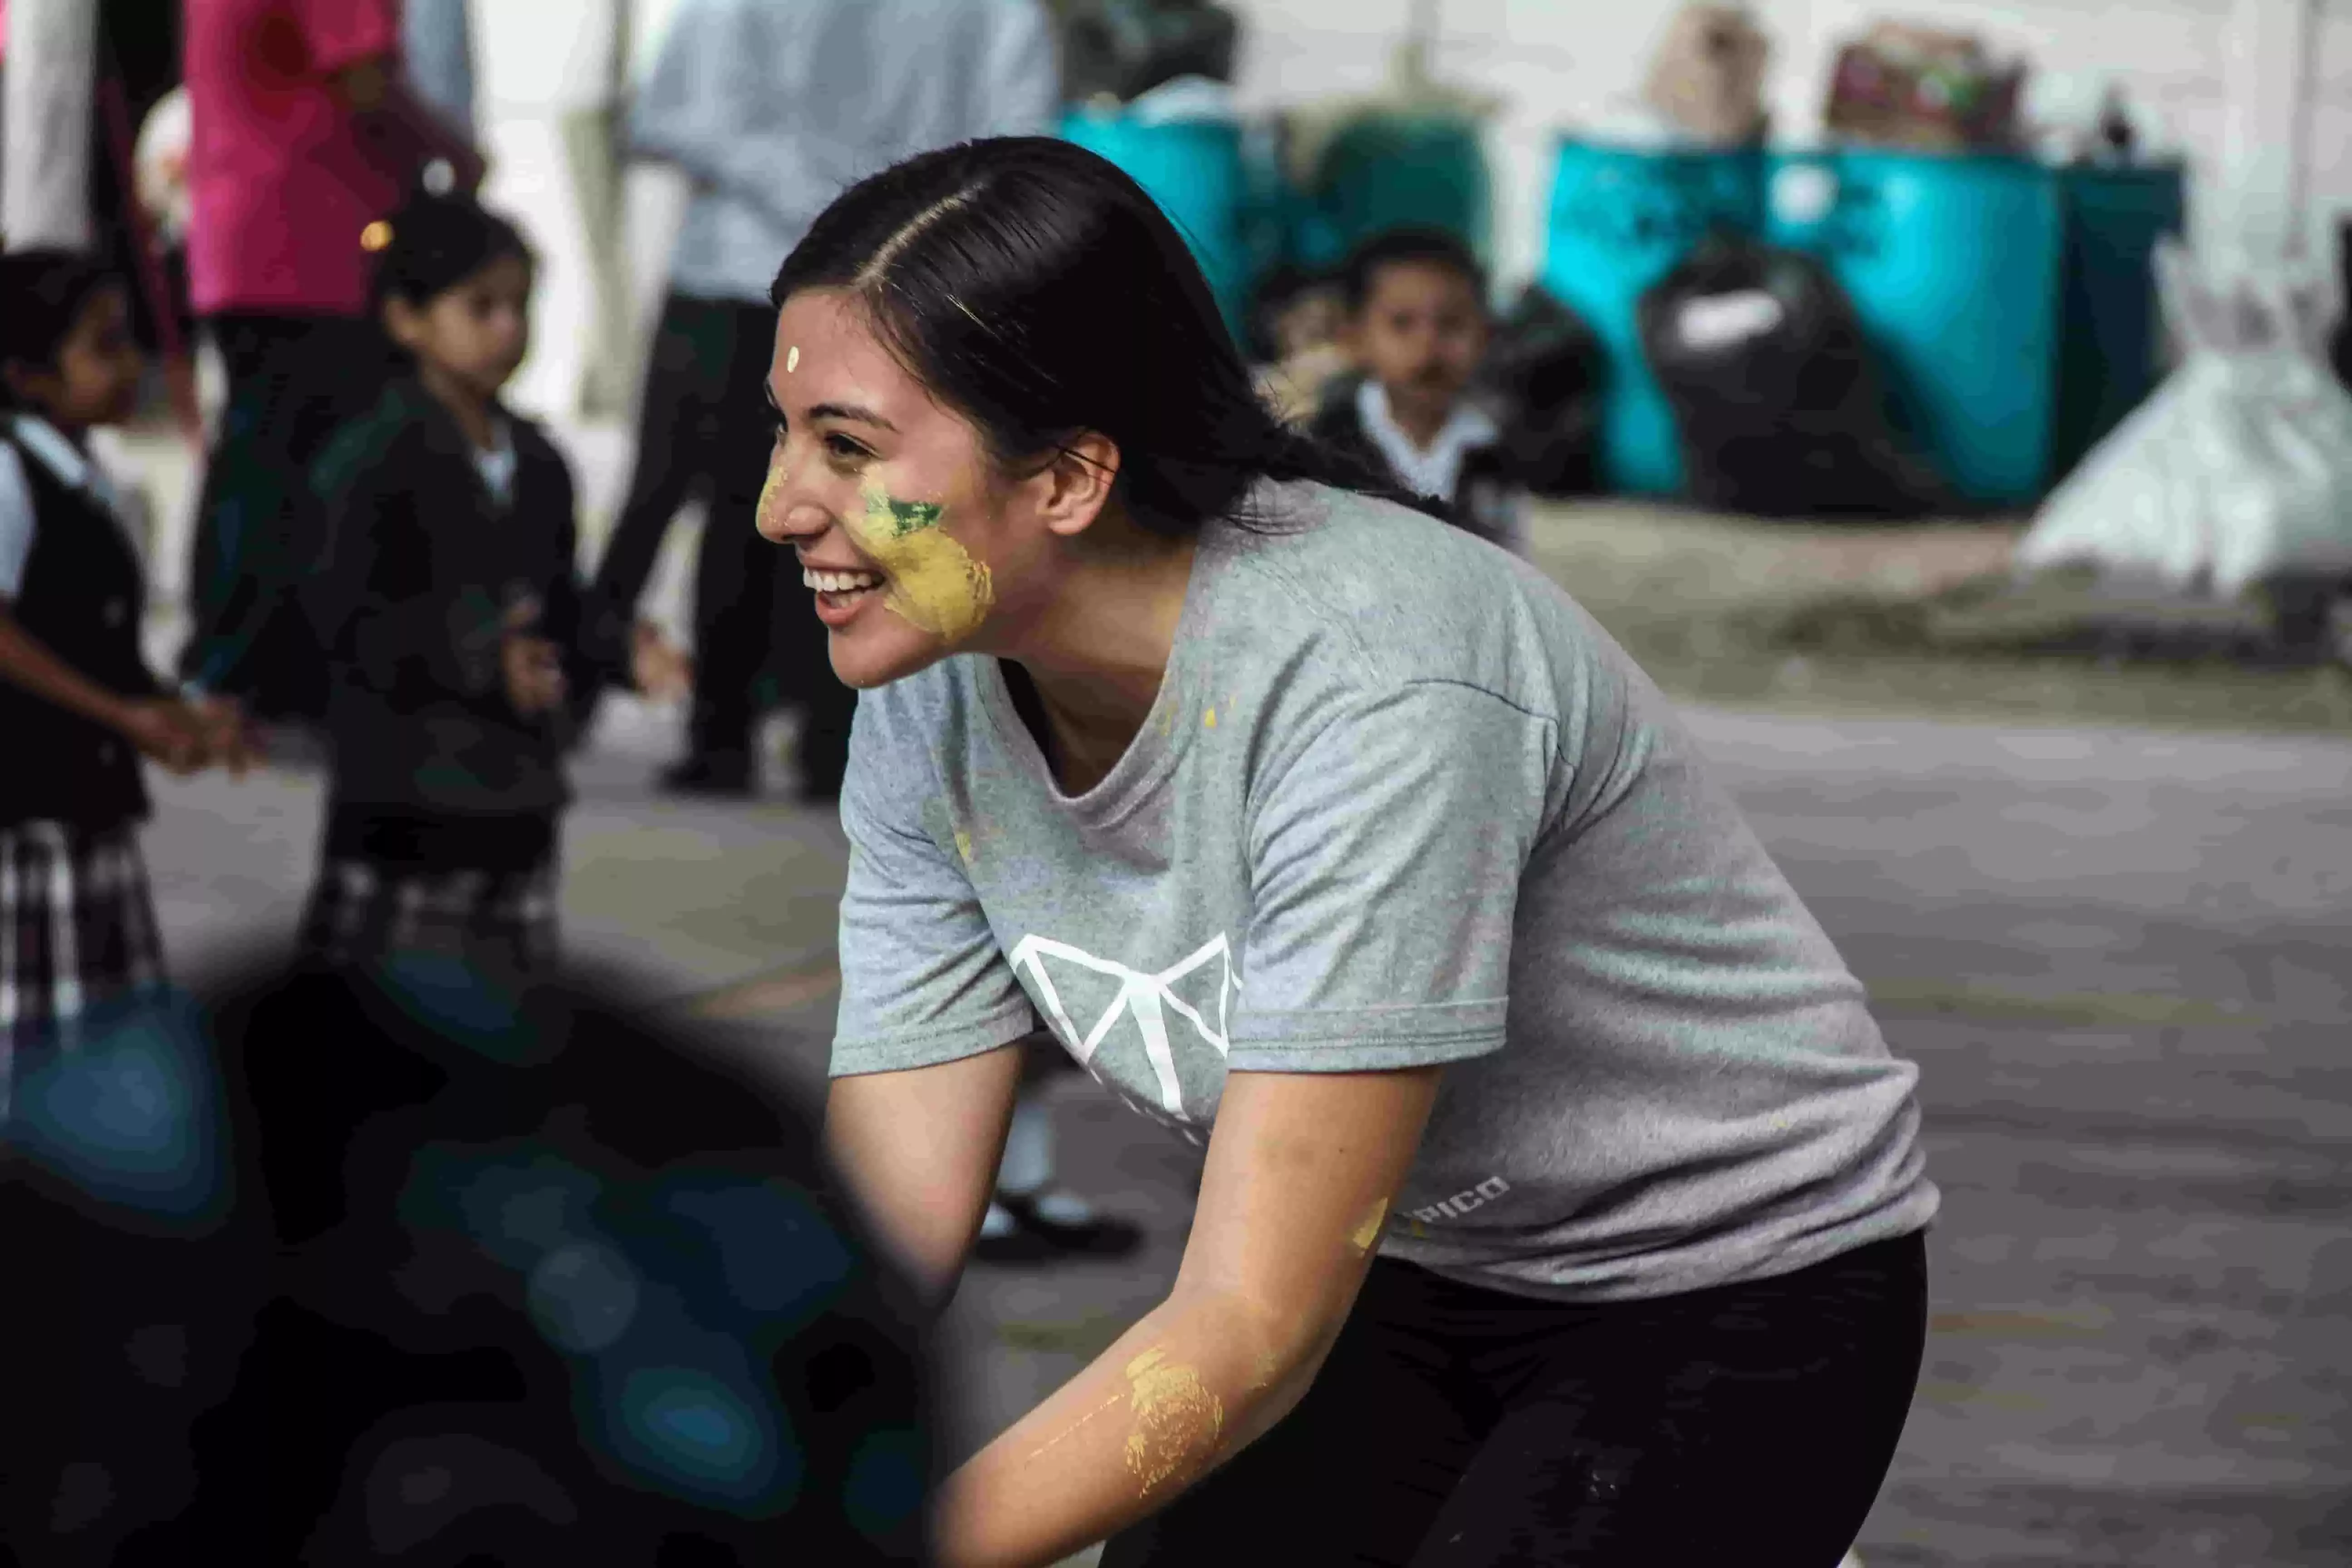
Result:
M1557 722L1477 686L1350 703L1251 811L1228 1065L1423 1067L1503 1046Z

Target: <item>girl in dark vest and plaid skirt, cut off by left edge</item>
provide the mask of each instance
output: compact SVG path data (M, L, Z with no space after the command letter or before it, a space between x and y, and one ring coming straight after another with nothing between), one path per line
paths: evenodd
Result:
M89 456L141 369L118 277L66 252L0 256L0 1117L19 1053L71 1046L92 1009L162 983L139 759L193 773L214 750L148 670L139 545ZM242 771L235 736L219 750Z

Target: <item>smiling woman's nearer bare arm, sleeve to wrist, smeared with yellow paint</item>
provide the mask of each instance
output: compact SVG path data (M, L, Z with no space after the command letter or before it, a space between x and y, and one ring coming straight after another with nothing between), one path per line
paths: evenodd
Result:
M1289 1415L1348 1321L1437 1077L1235 1072L1176 1288L948 1479L936 1561L1054 1563Z

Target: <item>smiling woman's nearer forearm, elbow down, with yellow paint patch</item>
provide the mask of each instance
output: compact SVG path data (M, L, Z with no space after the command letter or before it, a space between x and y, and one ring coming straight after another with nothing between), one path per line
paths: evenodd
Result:
M1305 1394L1329 1338L1237 1295L1174 1295L948 1476L941 1568L1044 1568L1240 1453Z

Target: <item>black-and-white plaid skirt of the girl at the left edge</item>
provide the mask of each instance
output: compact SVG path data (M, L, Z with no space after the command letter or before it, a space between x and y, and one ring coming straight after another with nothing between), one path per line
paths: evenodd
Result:
M134 823L0 827L0 1117L19 1056L73 1048L92 1009L162 985Z

